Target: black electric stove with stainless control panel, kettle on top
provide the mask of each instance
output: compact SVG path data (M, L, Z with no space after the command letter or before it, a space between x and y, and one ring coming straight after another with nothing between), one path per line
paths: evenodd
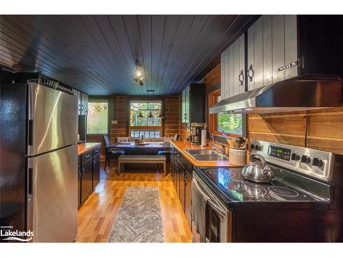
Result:
M250 149L265 158L272 182L245 180L243 167L193 168L209 197L210 241L343 241L343 156L261 140Z

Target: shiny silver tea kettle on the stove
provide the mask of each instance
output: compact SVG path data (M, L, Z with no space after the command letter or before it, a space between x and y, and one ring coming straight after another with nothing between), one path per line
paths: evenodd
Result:
M269 183L274 179L272 169L270 169L265 162L265 158L259 154L250 155L249 164L243 168L241 175L243 175L246 180L257 183Z

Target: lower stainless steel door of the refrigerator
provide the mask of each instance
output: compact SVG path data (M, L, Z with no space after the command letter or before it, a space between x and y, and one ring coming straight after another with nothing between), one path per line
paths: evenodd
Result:
M34 242L72 242L78 232L78 152L71 145L28 159L27 229Z

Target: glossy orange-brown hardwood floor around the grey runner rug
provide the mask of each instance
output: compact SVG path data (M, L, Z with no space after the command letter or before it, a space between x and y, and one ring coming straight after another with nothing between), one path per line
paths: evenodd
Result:
M158 186L165 242L191 242L191 230L170 174L124 171L116 174L116 163L100 171L100 182L78 211L76 242L107 242L126 186Z

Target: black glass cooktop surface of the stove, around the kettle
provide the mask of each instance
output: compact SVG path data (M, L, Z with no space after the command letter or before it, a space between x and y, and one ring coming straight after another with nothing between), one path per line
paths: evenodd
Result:
M320 182L314 182L311 179L304 178L298 174L289 173L279 167L272 166L272 171L276 179L268 184L260 184L245 180L241 175L241 167L197 167L195 172L202 178L206 184L214 191L225 204L229 207L240 206L249 208L254 202L262 203L286 203L292 202L294 207L296 203L303 203L304 208L309 204L316 204L319 208L329 203L330 186ZM288 173L287 173L288 172ZM298 184L292 185L286 178L296 178ZM308 187L300 188L303 184L312 183L317 191L309 190ZM307 180L307 181L305 181ZM261 205L259 205L261 206ZM285 206L286 207L286 206Z

